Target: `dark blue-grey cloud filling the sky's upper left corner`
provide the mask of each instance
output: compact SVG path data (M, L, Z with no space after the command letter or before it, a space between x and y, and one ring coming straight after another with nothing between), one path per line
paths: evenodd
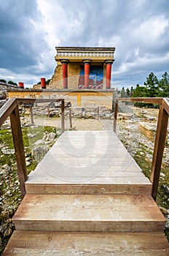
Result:
M1 0L0 12L1 68L16 72L37 65L47 42L36 27L42 17L36 1Z

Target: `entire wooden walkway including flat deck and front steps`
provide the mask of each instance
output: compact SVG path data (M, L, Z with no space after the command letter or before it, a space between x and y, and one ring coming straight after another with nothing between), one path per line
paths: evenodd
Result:
M169 255L152 184L114 132L64 132L25 187L4 255Z

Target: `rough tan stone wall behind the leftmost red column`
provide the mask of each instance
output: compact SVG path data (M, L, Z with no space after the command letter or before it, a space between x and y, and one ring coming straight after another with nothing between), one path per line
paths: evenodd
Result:
M77 63L68 63L68 89L76 90L78 89L79 83L79 72L80 66ZM58 66L55 68L54 75L50 80L50 84L47 86L47 89L63 89L63 71L62 64L58 62Z

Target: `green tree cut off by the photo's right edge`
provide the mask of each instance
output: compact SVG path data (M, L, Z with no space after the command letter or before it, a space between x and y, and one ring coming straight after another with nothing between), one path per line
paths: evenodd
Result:
M165 72L159 81L158 97L169 97L169 75Z

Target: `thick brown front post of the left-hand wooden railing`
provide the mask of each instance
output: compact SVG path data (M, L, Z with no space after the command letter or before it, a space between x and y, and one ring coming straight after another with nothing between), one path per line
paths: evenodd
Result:
M17 173L20 181L20 190L22 196L25 195L25 181L28 178L26 164L25 164L25 151L23 147L23 135L20 125L20 114L18 106L10 114L10 121L12 127L12 137L15 147L15 154L17 160Z

